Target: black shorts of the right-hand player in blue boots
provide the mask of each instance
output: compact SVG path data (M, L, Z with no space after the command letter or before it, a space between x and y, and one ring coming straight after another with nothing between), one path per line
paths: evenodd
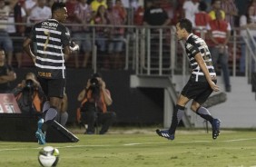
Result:
M212 81L217 83L217 80ZM193 75L182 89L183 96L193 99L195 102L200 104L204 103L211 93L212 88L209 83L206 80L196 82Z

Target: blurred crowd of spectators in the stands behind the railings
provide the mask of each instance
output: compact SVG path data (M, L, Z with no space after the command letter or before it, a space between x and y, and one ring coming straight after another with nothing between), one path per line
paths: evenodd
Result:
M68 11L66 24L70 24L68 26L72 37L81 47L80 52L74 54L73 58L76 68L88 68L91 63L94 48L91 25L113 25L95 28L95 44L97 53L103 55L103 68L119 69L123 68L123 41L128 32L126 28L120 27L122 25L175 25L180 18L186 17L196 27L194 33L199 33L198 30L206 32L207 25L216 18L216 11L221 12L222 20L230 27L229 31L240 26L249 27L254 31L253 25L256 21L255 0L245 0L243 6L236 4L235 0L64 0L64 2ZM34 23L51 18L53 3L54 0L0 0L0 46L5 50L8 65L17 67L23 65L24 53L21 43L24 36L29 34ZM249 9L253 10L251 15L248 13ZM207 34L200 35L205 35L207 38ZM244 73L244 57L244 47L241 47L241 73Z

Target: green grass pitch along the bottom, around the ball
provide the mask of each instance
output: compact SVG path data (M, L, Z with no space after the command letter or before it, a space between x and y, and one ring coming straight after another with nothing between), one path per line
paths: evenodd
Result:
M256 166L256 133L178 131L174 141L153 133L77 134L79 142L47 143L60 151L60 167L247 167ZM0 166L37 167L42 146L0 142Z

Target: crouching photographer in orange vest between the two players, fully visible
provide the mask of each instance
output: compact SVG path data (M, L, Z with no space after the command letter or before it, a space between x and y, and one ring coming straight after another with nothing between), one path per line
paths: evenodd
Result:
M94 125L102 124L100 134L108 131L116 114L107 111L107 106L113 103L111 93L105 88L105 82L101 74L93 74L88 80L84 90L79 93L78 101L81 106L77 112L79 123L87 124L85 134L94 134Z

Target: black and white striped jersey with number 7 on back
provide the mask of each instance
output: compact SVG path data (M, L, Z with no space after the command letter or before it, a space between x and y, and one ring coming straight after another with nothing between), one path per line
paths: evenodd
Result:
M48 19L34 25L29 37L36 49L38 77L65 78L63 49L70 44L69 30L57 20Z

